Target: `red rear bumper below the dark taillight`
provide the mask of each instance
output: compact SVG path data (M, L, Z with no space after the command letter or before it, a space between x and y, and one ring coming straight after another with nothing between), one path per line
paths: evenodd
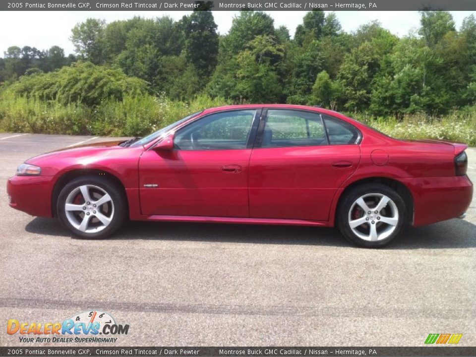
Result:
M402 179L413 194L414 226L462 216L473 199L468 176Z

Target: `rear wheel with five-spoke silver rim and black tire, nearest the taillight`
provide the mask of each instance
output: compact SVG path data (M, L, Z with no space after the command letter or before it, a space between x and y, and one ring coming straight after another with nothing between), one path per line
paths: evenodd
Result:
M402 197L381 183L357 186L339 205L338 227L347 239L364 247L390 243L405 226L407 210Z

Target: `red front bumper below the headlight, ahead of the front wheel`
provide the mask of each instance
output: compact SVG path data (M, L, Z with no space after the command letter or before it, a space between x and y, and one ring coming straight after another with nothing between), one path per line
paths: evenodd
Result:
M52 217L52 179L52 176L13 176L8 179L9 206L32 216Z

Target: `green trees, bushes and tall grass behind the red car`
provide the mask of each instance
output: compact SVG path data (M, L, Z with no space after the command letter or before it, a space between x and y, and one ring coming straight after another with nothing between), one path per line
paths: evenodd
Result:
M220 36L206 6L168 17L71 31L76 55L10 47L0 58L0 129L143 135L186 114L230 103L320 105L397 137L476 145L476 20L421 11L399 38L378 22L342 31L308 12L296 35L242 11Z

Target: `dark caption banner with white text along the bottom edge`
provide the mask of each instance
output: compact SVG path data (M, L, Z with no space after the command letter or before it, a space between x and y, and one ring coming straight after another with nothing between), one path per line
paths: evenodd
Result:
M0 347L0 356L476 356L476 347Z

